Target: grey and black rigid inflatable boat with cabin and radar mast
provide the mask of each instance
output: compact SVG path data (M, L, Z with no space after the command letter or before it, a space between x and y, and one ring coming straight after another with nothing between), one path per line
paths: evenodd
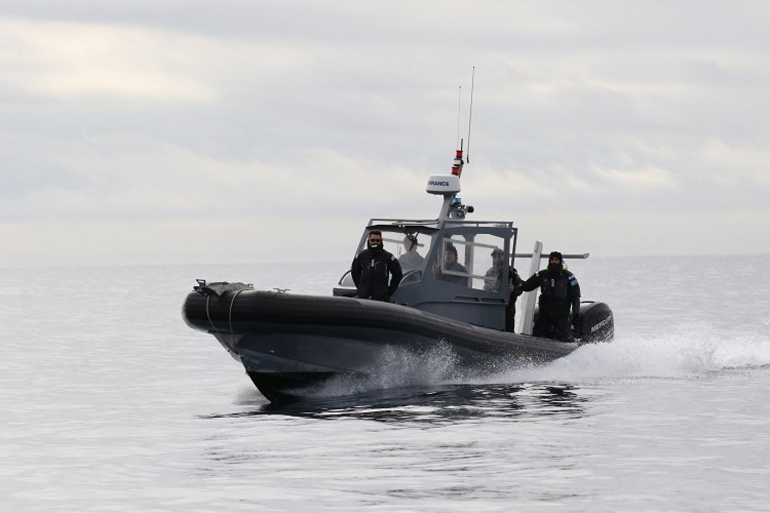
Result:
M547 253L541 242L532 253L516 253L517 228L512 222L467 220L474 208L457 197L463 164L460 150L450 175L432 175L428 180L427 192L444 197L438 218L370 219L363 230L356 254L372 230L382 232L385 248L393 255L403 256L407 241L417 248L409 265L403 265L403 279L391 302L355 298L350 271L331 296L290 294L280 288L260 291L250 284L199 279L182 307L187 325L214 335L269 401L303 395L335 376L368 375L393 348L417 355L445 348L458 371L478 374L544 364L578 345L611 340L612 312L595 301L581 301L574 341L531 336L537 291L526 293L521 301L517 315L521 333L503 331L510 294L500 284L508 283L509 267L498 268L497 288L502 290L496 290L490 280L490 252L502 250L511 266L516 258L529 258L530 275L539 270ZM450 245L465 271L446 267L444 255ZM406 264L407 259L403 261ZM454 279L448 281L447 276Z

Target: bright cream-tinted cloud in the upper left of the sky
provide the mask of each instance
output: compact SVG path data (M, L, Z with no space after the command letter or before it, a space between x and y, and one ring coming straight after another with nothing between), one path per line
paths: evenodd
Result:
M0 18L0 45L3 86L18 95L59 100L216 99L196 63L196 53L203 48L216 51L218 46L205 38L174 37L147 28ZM189 53L179 52L182 46Z

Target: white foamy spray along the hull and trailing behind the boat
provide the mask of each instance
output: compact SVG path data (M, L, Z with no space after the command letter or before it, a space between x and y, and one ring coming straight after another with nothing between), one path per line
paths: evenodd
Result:
M705 325L680 325L659 336L617 336L609 344L577 348L548 365L514 365L502 371L460 374L448 347L424 355L393 349L367 378L333 380L321 395L428 384L584 382L617 378L688 378L735 368L770 366L770 323L736 334Z

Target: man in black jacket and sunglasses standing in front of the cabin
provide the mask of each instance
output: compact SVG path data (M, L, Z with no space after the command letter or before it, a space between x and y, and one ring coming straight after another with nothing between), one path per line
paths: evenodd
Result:
M390 301L390 296L403 278L401 265L383 249L383 234L379 230L369 232L367 248L353 258L350 274L358 289L358 298L376 301Z

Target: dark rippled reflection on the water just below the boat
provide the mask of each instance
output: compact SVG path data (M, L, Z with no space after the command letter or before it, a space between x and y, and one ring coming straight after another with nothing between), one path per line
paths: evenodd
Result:
M588 398L571 384L442 385L390 388L366 394L305 398L204 418L283 415L294 418L355 418L381 422L447 424L484 418L585 415ZM243 403L248 405L249 403Z

